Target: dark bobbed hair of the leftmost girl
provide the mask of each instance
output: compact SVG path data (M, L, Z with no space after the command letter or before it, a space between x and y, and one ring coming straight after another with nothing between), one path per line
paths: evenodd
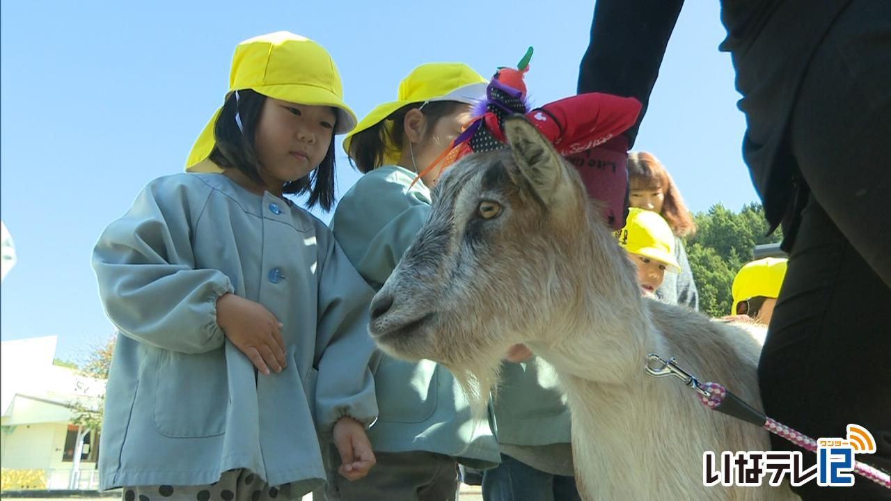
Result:
M257 122L260 119L260 111L263 110L263 103L266 102L266 96L250 89L240 90L238 94L238 114L244 131L242 132L235 122L235 93L229 94L217 117L217 123L214 124L216 144L209 158L221 168L237 168L245 176L262 184L263 180L259 175L261 165L257 158L255 140ZM328 152L318 168L310 172L309 176L282 186L282 193L307 192L309 193L307 208L312 208L317 203L323 210L331 210L334 205L333 137Z

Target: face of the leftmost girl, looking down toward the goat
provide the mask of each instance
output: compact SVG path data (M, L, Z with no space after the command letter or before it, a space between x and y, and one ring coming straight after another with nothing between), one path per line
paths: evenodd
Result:
M260 177L269 186L296 181L317 168L331 145L337 114L329 106L288 103L267 97L257 121Z

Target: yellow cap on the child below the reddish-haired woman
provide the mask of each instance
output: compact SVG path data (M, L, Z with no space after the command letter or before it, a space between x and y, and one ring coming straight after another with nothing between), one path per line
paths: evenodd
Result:
M674 234L662 216L652 210L628 209L625 227L616 232L618 244L633 254L639 254L665 264L672 271L681 271L674 259Z

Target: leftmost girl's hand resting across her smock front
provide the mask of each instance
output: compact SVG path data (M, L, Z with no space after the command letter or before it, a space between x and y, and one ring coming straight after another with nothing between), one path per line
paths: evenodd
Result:
M269 375L287 366L284 357L282 324L260 303L227 293L217 300L217 324L257 369Z

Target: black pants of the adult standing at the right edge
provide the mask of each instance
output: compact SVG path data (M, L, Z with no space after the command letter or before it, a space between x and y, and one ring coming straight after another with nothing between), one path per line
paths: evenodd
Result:
M809 191L758 366L767 415L814 439L871 431L891 471L891 5L854 1L814 54L789 149ZM772 437L772 447L801 450ZM805 466L813 453L804 452ZM891 499L854 488L811 499Z

